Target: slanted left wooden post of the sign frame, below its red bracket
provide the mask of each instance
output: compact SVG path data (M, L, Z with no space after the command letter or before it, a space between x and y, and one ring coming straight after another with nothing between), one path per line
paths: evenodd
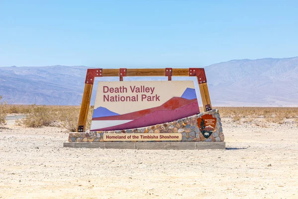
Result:
M93 84L85 84L76 132L85 132Z

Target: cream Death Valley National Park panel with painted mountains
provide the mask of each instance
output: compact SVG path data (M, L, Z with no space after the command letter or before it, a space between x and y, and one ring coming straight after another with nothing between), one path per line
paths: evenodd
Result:
M151 126L199 112L193 81L98 82L91 131Z

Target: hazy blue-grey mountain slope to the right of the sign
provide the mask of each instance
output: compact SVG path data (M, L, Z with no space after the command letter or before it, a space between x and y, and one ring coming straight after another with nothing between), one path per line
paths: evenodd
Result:
M220 106L298 106L298 57L231 60L205 68Z

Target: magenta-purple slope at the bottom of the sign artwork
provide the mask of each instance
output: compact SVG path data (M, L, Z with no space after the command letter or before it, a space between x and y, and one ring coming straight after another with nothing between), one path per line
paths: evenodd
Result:
M148 109L146 109L146 111L147 110ZM168 110L156 109L155 111L152 111L149 114L139 117L133 121L130 121L124 124L119 124L116 126L110 126L110 127L100 128L100 129L92 129L92 131L124 130L124 129L140 128L140 127L174 121L177 119L188 117L190 115L198 114L199 112L200 110L199 110L198 101L197 99L195 99L195 100L192 100L191 103L188 103L184 106L180 106L176 109L168 109Z

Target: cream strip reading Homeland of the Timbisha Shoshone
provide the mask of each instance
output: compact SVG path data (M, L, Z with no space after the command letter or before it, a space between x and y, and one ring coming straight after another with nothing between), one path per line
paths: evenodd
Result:
M104 133L103 141L181 141L181 133Z

